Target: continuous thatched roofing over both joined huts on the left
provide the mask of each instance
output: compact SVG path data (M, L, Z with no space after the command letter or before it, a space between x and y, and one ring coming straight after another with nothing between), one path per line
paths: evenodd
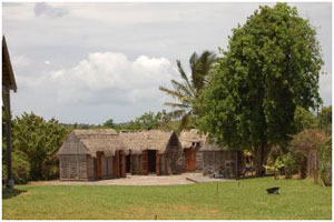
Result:
M57 154L89 154L102 151L106 157L122 150L126 154L139 154L144 150L158 150L164 153L169 140L177 139L174 132L159 130L118 134L115 130L73 130Z

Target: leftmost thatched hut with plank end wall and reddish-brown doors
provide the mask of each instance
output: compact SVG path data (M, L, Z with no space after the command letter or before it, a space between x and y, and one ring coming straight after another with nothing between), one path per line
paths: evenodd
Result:
M57 153L60 180L125 178L124 149L115 130L73 130Z

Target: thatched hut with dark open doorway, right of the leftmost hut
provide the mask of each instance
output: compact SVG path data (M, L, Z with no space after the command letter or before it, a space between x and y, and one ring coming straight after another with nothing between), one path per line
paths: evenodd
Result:
M150 130L120 134L126 145L126 165L131 174L158 175L185 172L183 148L175 132Z

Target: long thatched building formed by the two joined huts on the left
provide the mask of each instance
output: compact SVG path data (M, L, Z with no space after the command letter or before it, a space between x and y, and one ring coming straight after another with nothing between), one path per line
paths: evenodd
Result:
M60 180L99 180L132 174L185 172L175 132L118 134L115 130L73 130L58 151Z

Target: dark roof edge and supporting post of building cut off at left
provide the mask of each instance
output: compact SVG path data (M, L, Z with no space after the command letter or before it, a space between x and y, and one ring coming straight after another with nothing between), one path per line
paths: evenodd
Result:
M7 42L4 37L2 38L2 110L6 114L6 145L7 145L7 181L6 188L13 188L13 180L11 173L11 150L12 150L12 139L11 139L11 111L10 111L10 91L17 92L17 83L14 73L11 67L9 51L7 48Z

